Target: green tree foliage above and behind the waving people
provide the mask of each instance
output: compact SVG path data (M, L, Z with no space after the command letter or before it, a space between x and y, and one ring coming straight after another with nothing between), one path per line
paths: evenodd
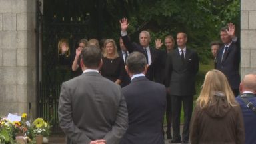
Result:
M211 52L209 43L219 39L219 29L232 22L239 31L238 0L191 0L141 1L138 9L129 13L129 33L133 41L138 40L139 31L151 32L151 45L155 39L165 35L175 35L183 31L188 35L189 47L199 53L201 63L209 63ZM125 15L124 15L125 17ZM119 34L119 23L117 25ZM237 34L239 35L239 33Z

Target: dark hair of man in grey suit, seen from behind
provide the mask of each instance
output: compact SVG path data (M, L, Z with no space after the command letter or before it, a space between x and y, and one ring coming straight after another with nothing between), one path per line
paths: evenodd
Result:
M85 67L97 69L101 63L101 50L95 45L88 45L81 51L81 59Z

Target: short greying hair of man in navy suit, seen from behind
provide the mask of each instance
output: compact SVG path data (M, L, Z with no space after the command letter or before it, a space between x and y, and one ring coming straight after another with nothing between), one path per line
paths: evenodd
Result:
M139 74L144 71L147 60L142 53L133 52L127 57L126 65L131 73Z

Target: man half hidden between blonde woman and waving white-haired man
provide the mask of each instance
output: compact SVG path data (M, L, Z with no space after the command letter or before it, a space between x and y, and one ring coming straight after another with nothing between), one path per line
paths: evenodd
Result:
M119 38L119 46L120 46L120 51L118 51L119 57L123 59L123 63L126 63L126 59L129 56L129 51L126 49L125 45L123 44L123 39L122 37ZM131 79L127 73L125 73L123 77L123 81L121 83L121 87L125 87L126 85L129 85L131 83Z

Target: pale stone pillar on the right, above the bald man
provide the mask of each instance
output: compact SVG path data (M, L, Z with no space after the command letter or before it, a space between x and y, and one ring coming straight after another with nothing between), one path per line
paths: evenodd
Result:
M241 0L241 78L256 73L255 0Z

